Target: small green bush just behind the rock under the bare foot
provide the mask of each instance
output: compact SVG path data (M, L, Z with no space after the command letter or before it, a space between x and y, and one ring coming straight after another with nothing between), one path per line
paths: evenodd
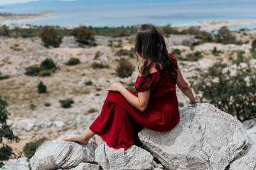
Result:
M24 152L25 156L28 159L31 159L31 157L33 157L33 155L35 154L36 149L38 149L38 147L40 147L40 145L43 144L44 140L45 140L45 138L41 138L40 140L37 140L36 142L26 143L25 147L23 147L23 152Z

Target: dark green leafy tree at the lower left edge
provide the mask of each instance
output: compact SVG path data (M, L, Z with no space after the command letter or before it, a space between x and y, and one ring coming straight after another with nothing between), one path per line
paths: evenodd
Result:
M8 115L10 115L10 113L6 110L7 106L8 103L4 100L4 98L1 98L0 94L0 144L2 145L0 148L0 167L4 165L1 161L8 160L9 157L14 154L11 147L3 143L4 138L9 142L18 142L19 140L18 137L14 135L9 125L6 125L6 120L8 119Z

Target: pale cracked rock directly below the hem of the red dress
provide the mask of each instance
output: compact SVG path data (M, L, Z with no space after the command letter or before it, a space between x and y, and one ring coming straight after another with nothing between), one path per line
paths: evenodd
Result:
M153 156L145 149L132 145L124 151L124 148L114 149L107 146L104 140L99 142L95 150L95 159L103 169L151 169Z

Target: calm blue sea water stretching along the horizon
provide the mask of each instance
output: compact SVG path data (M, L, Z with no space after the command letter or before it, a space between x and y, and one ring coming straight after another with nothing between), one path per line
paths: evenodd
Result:
M176 4L140 4L117 6L81 6L70 8L23 8L1 9L8 13L34 13L53 10L58 14L50 18L39 18L21 21L16 25L32 24L38 26L134 26L142 23L153 23L157 26L201 25L199 21L237 21L256 20L256 1L214 1ZM10 25L10 24L9 24ZM230 27L256 28L249 26Z

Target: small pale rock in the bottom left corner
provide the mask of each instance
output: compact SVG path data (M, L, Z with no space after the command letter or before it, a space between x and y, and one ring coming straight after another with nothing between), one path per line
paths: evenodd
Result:
M22 157L19 159L11 159L7 162L1 170L30 170L30 164L27 157Z

